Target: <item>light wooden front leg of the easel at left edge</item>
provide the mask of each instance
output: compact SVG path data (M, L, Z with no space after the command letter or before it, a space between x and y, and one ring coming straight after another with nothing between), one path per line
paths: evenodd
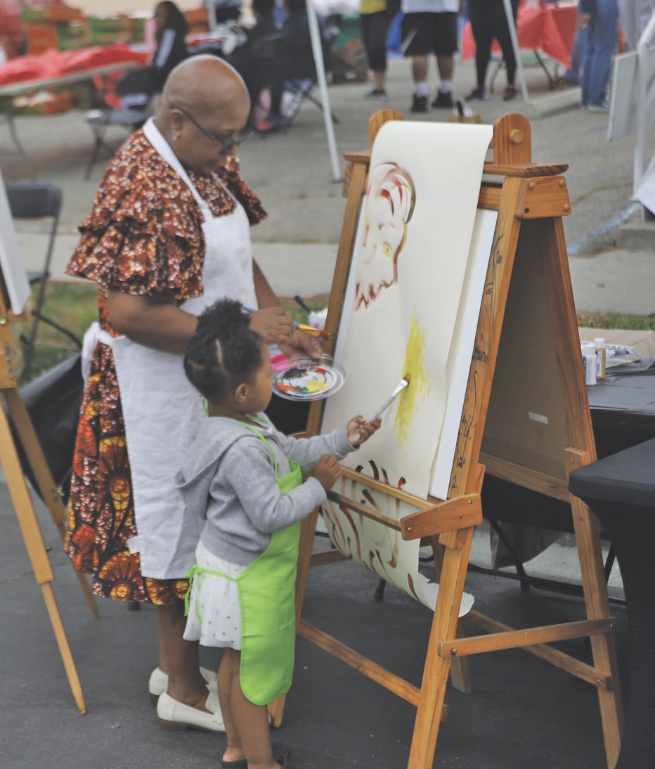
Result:
M6 394L6 391L3 392ZM18 524L21 527L23 541L25 541L25 547L32 563L35 580L41 585L43 591L45 605L48 608L52 628L55 631L55 638L57 638L59 651L62 654L62 661L68 675L68 683L75 697L75 702L78 704L81 713L85 714L84 695L81 691L75 662L73 661L71 649L68 646L62 618L55 603L52 585L50 584L55 579L55 574L52 571L52 564L45 549L41 527L38 524L32 498L25 483L25 476L23 475L21 463L18 460L18 453L4 408L0 408L0 447L2 447L0 448L0 451L2 451L0 458L2 458L2 465L5 468L9 494L11 494Z

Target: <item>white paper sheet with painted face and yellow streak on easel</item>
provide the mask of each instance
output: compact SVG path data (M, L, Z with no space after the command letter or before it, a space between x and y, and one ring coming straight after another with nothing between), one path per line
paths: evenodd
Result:
M323 429L354 414L372 417L409 373L381 430L345 461L421 498L431 488L444 424L448 358L492 132L486 125L389 122L371 153L372 191L335 351L347 380L326 404Z

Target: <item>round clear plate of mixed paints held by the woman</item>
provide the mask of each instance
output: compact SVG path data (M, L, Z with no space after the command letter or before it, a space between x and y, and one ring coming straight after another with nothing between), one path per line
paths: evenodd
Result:
M274 371L273 391L288 401L319 401L334 394L346 381L346 373L333 358L291 358L289 365Z

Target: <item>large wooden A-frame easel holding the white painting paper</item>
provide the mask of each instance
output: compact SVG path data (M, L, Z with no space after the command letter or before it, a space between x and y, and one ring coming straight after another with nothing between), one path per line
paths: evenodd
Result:
M377 130L390 119L402 117L383 111L371 118L371 145ZM341 319L370 155L346 158L350 162L347 207L327 323L333 339ZM493 158L484 166L485 175L493 181L483 181L478 207L498 211L497 226L448 498L418 500L386 487L388 494L400 494L417 510L401 518L400 524L385 520L368 505L345 501L352 510L399 529L404 539L431 538L442 548L439 593L421 688L301 618L309 565L314 560L326 561L325 554L314 560L311 554L317 512L305 521L301 538L298 633L417 706L409 769L428 769L433 764L451 661L518 647L597 687L607 766L612 769L620 749L623 716L598 524L588 508L567 491L569 471L596 458L562 225L562 216L570 213L567 185L561 176L567 166L531 161L530 124L522 115L506 115L494 125ZM316 401L308 434L316 434L320 426L321 402ZM514 630L470 611L464 619L474 621L487 634L458 636L457 614L474 527L482 520L480 489L485 471L570 502L586 620ZM384 484L346 472L369 488L384 491ZM339 502L344 504L341 498ZM547 645L582 637L590 638L593 664ZM282 703L276 706L274 717L279 722Z

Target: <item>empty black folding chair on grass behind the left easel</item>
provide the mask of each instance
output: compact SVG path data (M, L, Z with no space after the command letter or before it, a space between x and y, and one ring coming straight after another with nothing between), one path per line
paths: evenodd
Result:
M45 250L45 260L43 268L40 271L29 272L28 281L30 285L38 284L38 294L36 296L34 310L32 315L34 321L29 333L29 337L22 337L24 345L24 365L22 370L22 379L27 380L32 371L32 361L34 358L34 349L38 325L44 321L62 334L65 334L75 345L81 349L81 341L68 328L64 328L51 318L45 318L42 315L43 303L45 301L45 289L50 278L50 263L52 261L52 251L55 246L55 237L59 224L59 214L62 209L62 189L55 184L39 181L26 181L17 184L5 185L7 199L12 217L15 219L49 219L48 228L45 231L47 245Z

